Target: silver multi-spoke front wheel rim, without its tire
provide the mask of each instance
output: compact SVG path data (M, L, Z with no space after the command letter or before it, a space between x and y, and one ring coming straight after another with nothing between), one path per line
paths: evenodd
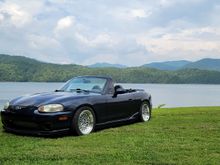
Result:
M92 132L94 127L94 116L90 110L83 110L79 114L78 128L83 135Z

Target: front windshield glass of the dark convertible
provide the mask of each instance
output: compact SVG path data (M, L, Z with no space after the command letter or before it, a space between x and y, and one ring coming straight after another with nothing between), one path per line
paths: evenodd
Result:
M88 91L101 93L105 87L106 81L107 80L105 78L98 77L76 77L67 81L58 91Z

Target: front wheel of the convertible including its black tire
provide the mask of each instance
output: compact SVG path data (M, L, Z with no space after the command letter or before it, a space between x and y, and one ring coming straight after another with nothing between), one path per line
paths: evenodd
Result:
M78 136L90 134L95 128L95 121L92 108L88 106L81 107L73 116L72 130Z

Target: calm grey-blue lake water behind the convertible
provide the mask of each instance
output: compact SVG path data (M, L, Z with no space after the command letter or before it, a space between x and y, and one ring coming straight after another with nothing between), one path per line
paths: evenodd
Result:
M54 91L63 83L0 82L0 107L15 97ZM125 88L144 89L152 95L153 105L165 107L220 106L220 85L121 84Z

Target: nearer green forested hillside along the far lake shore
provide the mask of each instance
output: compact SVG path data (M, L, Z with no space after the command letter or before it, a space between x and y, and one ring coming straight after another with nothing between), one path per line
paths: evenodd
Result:
M161 71L145 67L88 68L44 63L20 56L0 55L0 81L59 82L79 75L108 75L121 83L220 84L220 72L199 69Z

